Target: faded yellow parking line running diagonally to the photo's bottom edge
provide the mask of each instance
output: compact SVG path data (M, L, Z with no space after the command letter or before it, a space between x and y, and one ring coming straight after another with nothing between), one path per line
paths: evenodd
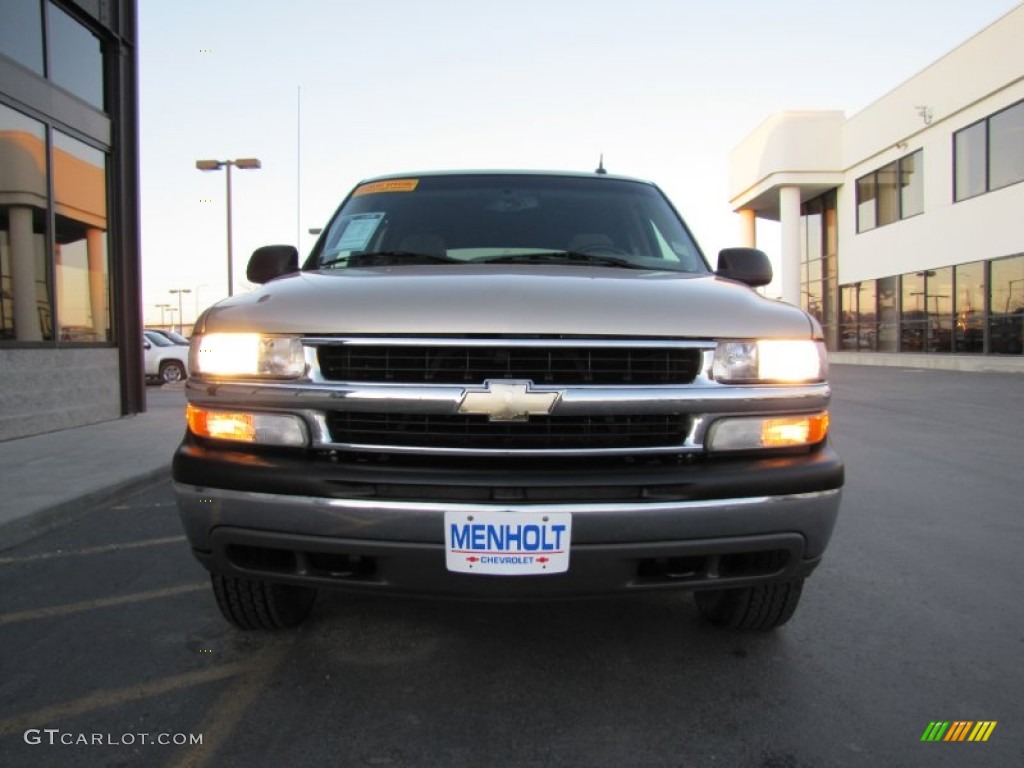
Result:
M265 648L247 664L247 674L229 686L211 708L212 716L203 720L198 730L203 733L203 744L186 752L170 768L203 768L209 765L221 744L234 732L242 718L260 695L270 676L278 670L295 643L292 635L276 645Z

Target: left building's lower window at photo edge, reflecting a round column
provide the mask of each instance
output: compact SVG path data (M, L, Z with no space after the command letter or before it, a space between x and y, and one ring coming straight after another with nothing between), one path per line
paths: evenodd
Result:
M0 104L0 339L52 338L46 129Z

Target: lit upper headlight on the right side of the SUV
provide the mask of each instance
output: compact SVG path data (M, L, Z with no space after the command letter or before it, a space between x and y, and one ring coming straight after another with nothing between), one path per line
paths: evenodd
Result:
M720 341L713 375L726 384L824 381L828 375L825 345L810 339Z

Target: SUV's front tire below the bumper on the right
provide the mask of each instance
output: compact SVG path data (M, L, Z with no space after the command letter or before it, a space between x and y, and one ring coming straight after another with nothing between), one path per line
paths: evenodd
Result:
M700 615L716 627L734 630L773 630L790 621L800 602L804 580L760 584L732 590L696 592Z

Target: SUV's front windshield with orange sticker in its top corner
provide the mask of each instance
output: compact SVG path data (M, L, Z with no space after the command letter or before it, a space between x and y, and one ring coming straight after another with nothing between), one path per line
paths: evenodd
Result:
M541 262L708 271L656 187L526 174L361 184L335 214L306 268Z

